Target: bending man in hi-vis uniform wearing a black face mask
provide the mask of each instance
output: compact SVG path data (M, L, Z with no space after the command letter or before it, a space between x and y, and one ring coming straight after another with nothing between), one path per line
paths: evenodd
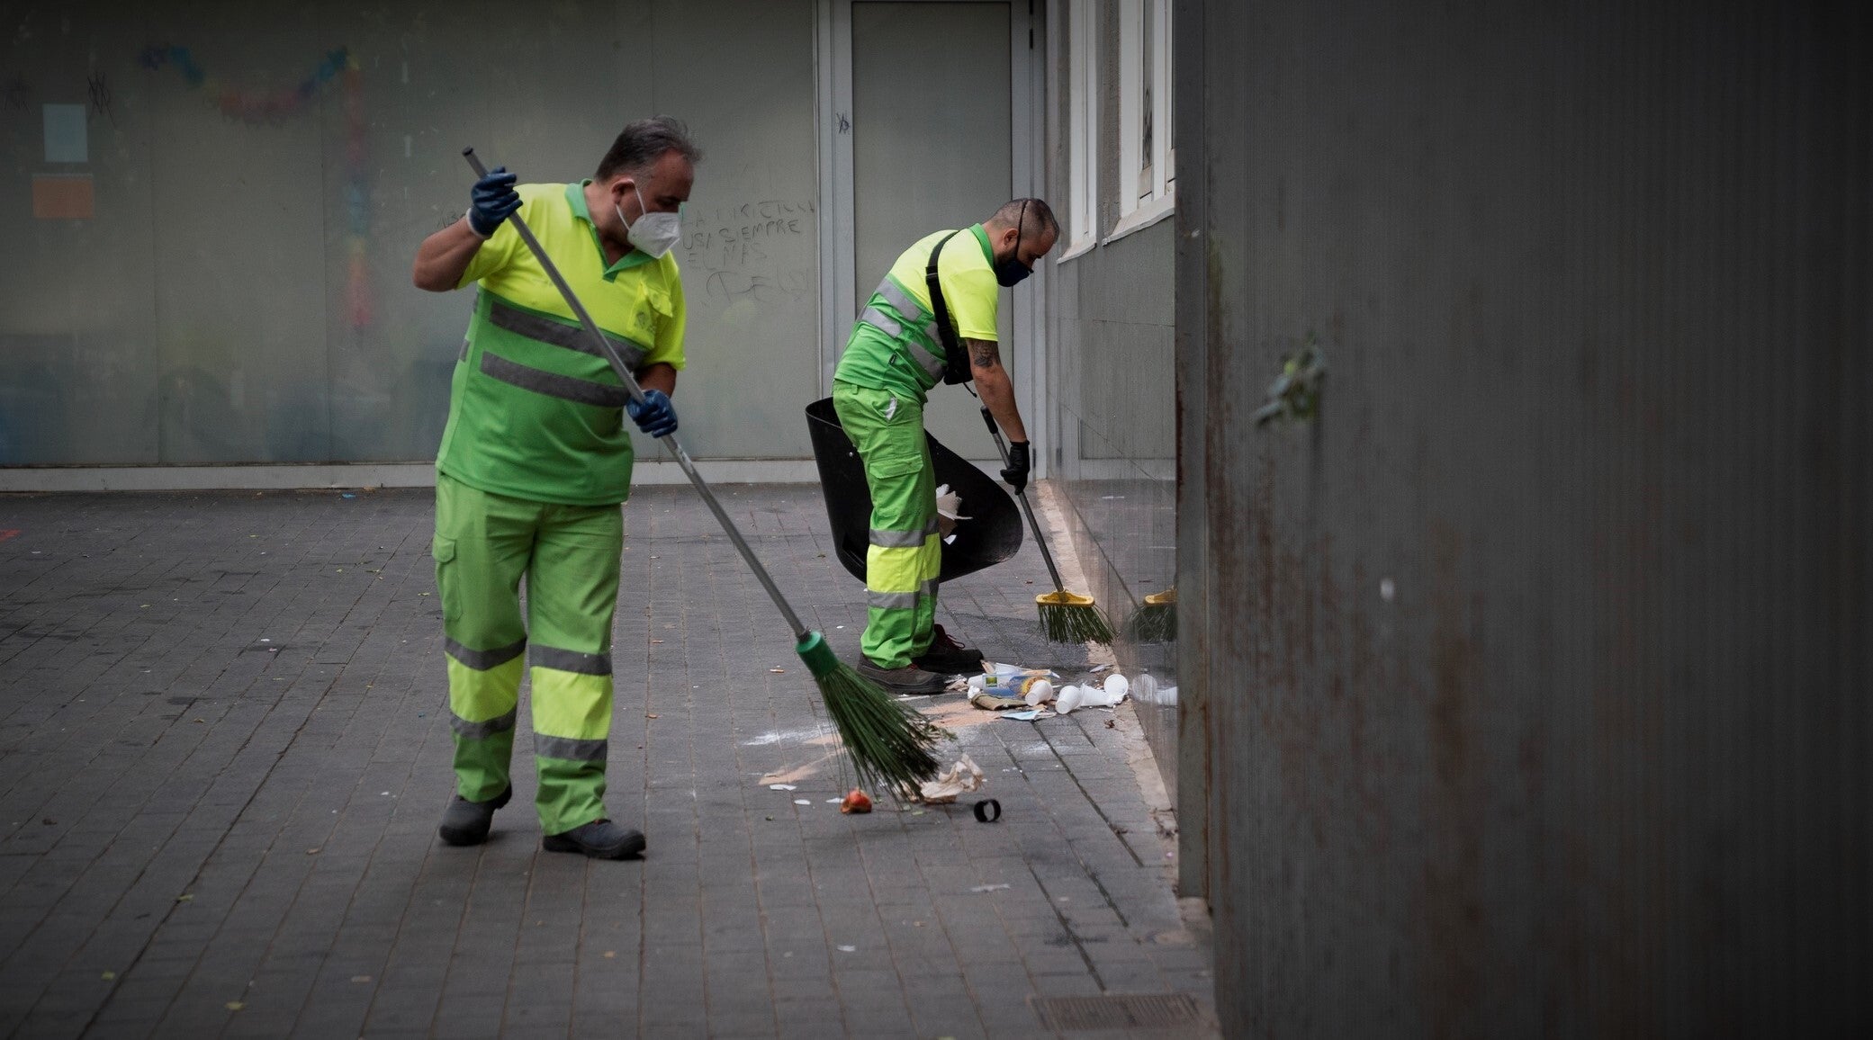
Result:
M871 294L833 372L832 402L871 488L858 672L899 694L935 694L946 675L981 662L981 651L936 625L942 544L923 440L925 395L938 382L974 380L1010 441L1002 479L1015 490L1026 486L1028 434L1002 368L995 314L1000 286L1028 277L1058 236L1045 202L1017 198L980 224L922 238Z

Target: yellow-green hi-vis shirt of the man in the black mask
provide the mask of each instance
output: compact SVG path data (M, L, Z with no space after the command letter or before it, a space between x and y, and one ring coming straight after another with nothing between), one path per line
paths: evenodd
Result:
M833 378L873 389L897 391L925 400L942 382L944 348L931 311L925 271L931 249L950 232L936 232L907 249L865 303ZM976 245L972 249L970 245ZM995 309L1002 286L995 281L989 232L974 224L957 232L936 258L944 307L955 324L957 346L965 339L995 342Z

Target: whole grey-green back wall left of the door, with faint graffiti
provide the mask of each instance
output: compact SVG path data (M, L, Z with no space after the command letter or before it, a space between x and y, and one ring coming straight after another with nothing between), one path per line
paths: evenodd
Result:
M461 148L569 181L654 112L708 153L678 254L678 402L706 402L686 443L807 456L813 19L811 0L11 4L0 466L433 458L470 301L410 288L410 260L466 208ZM45 105L81 110L81 157L47 152ZM90 215L36 217L36 191L73 187Z

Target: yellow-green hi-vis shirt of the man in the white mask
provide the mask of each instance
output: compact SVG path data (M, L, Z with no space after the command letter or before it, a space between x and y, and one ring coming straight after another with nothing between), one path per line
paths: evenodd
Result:
M616 264L592 228L581 183L523 183L521 217L592 320L635 372L684 367L684 282L676 256L626 253ZM573 318L513 221L468 264L479 282L468 340L450 383L436 469L483 492L562 505L631 496L624 383Z

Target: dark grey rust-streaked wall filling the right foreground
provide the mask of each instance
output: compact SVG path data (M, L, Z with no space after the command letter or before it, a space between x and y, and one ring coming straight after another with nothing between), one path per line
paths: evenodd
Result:
M1178 41L1225 1033L1864 1034L1866 6L1187 0ZM1319 419L1259 426L1309 335Z

